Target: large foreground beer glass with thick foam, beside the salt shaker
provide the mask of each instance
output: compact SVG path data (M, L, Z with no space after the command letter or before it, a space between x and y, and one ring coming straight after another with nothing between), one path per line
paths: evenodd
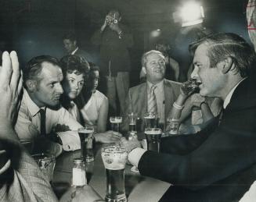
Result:
M106 168L106 197L107 202L126 202L124 190L124 167L127 161L125 148L104 147L101 152Z

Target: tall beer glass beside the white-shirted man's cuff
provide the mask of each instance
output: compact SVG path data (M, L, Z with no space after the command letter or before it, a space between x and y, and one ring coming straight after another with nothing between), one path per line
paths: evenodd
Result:
M81 141L81 158L84 158L85 162L94 161L92 137L94 133L93 126L86 126L78 129L78 134Z

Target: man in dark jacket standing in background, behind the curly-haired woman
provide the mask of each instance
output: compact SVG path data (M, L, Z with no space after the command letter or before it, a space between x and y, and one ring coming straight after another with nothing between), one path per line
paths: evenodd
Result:
M88 62L94 62L92 55L78 47L77 37L74 33L68 33L63 36L63 44L68 55L78 55Z

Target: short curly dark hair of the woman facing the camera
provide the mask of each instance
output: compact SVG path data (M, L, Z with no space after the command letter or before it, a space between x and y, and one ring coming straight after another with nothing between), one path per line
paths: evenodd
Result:
M77 75L84 74L85 80L88 77L90 66L87 60L79 55L66 55L60 59L60 66L63 76L67 73L75 73Z

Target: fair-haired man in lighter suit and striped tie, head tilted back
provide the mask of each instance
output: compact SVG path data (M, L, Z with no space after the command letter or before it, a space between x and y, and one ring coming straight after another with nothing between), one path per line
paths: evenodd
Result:
M142 55L142 71L146 74L146 83L129 89L125 103L126 112L124 113L124 122L122 130L128 131L128 113L138 114L140 119L146 112L150 112L150 90L156 87L154 95L156 98L156 113L158 122L164 126L171 106L179 94L180 83L165 80L165 62L164 55L160 51L147 51ZM138 128L142 131L143 123Z

